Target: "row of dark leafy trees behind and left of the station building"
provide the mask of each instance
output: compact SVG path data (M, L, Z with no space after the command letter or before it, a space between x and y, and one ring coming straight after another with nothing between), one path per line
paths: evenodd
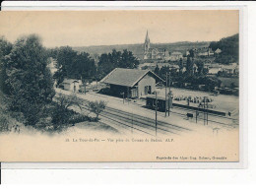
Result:
M137 68L139 61L133 53L128 50L103 53L94 58L89 53L79 53L69 46L51 49L48 54L57 61L57 72L54 79L57 85L63 82L64 78L85 81L98 81L115 68ZM98 62L96 63L96 60Z

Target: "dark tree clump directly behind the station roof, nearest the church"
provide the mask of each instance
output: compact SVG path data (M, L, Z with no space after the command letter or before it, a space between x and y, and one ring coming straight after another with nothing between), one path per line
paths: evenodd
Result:
M139 61L131 51L126 49L121 51L112 50L111 53L103 53L98 61L98 79L102 79L115 68L137 68Z

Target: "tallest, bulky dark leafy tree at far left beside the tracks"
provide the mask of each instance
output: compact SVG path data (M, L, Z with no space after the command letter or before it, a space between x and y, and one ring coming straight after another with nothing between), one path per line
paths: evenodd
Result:
M46 50L40 38L31 34L15 42L6 61L10 109L22 112L25 124L34 125L55 95Z

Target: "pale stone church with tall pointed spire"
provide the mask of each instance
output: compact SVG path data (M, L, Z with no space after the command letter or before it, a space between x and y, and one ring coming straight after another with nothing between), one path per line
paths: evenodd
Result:
M168 60L169 52L164 48L151 48L149 32L146 33L144 42L144 60Z

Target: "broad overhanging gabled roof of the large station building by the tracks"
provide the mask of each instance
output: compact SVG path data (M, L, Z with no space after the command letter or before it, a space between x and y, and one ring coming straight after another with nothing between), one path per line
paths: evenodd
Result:
M137 70L137 69L127 69L127 68L115 68L108 75L106 75L100 82L119 85L124 87L133 87L138 83L143 77L151 73L160 81L164 82L158 75L150 70Z

